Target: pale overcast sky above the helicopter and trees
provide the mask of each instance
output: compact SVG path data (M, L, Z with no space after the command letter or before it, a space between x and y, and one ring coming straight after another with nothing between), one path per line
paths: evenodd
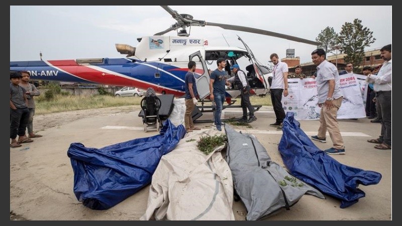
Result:
M376 41L366 50L392 42L391 6L169 6L193 19L239 25L315 41L326 27L339 33L346 22L362 21ZM10 61L121 58L115 43L136 46L137 38L161 32L174 20L160 6L10 6ZM239 35L256 58L268 65L269 55L284 58L295 49L300 63L311 62L316 46L285 39L230 31L219 27L191 27L190 37L209 46L244 48ZM176 31L166 33L175 36ZM225 41L226 39L226 41Z

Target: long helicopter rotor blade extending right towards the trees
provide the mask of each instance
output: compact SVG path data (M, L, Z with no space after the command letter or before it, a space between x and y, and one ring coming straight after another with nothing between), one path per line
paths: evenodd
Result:
M261 30L261 29L257 29L257 28L243 27L243 26L237 26L237 25L228 25L228 24L210 23L210 22L206 22L205 25L221 27L221 28L227 29L227 30L250 32L250 33L255 33L255 34L260 34L260 35L268 35L268 36L287 39L287 40L291 40L291 41L295 41L295 42L303 42L303 43L316 45L316 46L321 45L321 43L319 43L319 42L311 41L308 39L298 38L298 37L290 36L290 35L284 35L284 34L280 34L280 33L276 33L276 32L265 31L265 30Z

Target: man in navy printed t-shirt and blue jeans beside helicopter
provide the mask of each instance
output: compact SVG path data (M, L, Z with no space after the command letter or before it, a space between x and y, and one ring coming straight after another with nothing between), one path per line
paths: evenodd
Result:
M227 72L224 70L226 66L226 61L224 58L218 58L217 60L218 68L211 72L210 76L210 99L211 101L215 101L215 126L218 131L222 131L222 109L223 103L225 101L225 85L230 85L228 81L226 81Z

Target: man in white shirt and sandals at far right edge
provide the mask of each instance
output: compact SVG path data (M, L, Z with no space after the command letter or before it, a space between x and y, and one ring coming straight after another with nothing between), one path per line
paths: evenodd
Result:
M369 74L367 81L374 83L376 103L379 104L381 114L381 135L377 139L367 140L375 143L376 149L391 149L391 129L392 129L392 47L391 44L380 49L381 58L385 60L377 75Z

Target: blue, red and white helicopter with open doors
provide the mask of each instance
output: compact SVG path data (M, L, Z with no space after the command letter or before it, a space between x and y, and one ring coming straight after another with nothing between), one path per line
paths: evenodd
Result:
M11 71L28 71L31 79L64 81L77 83L97 83L115 86L134 86L141 89L152 87L157 93L173 94L181 97L185 93L184 76L188 71L187 63L196 62L195 79L199 99L210 95L210 69L216 68L216 60L225 58L228 76L230 66L246 65L250 83L250 95L260 95L269 90L268 77L270 68L261 64L247 44L238 36L244 48L213 47L208 40L193 38L187 33L191 26L215 26L227 30L242 31L268 35L291 41L319 45L320 43L294 36L279 34L256 28L237 25L211 23L195 20L189 14L179 14L169 6L161 6L177 22L164 31L152 36L137 38L136 47L127 44L115 44L119 53L126 55L122 58L91 58L70 60L39 60L39 61L10 61ZM177 31L176 36L164 36L171 31ZM212 66L211 66L212 65ZM211 67L211 68L210 68ZM240 90L234 87L226 89L227 102L240 95ZM233 103L233 102L232 102Z

